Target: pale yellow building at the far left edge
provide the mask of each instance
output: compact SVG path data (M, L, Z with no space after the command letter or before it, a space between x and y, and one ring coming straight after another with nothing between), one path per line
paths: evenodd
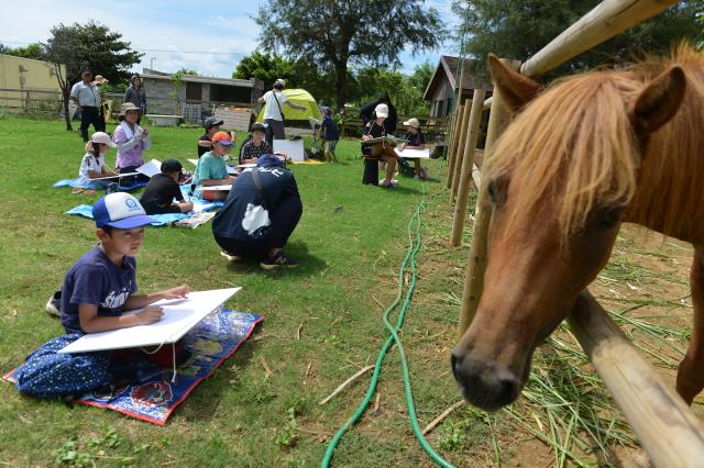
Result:
M0 89L3 110L53 115L61 110L62 91L48 62L0 54Z

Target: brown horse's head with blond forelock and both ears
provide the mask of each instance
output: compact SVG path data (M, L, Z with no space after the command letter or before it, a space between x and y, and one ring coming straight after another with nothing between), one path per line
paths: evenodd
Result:
M685 81L678 67L649 83L595 73L537 94L536 82L495 57L490 69L495 92L525 109L483 168L493 204L488 264L452 370L465 398L491 411L516 400L536 346L606 264L647 135L676 112Z

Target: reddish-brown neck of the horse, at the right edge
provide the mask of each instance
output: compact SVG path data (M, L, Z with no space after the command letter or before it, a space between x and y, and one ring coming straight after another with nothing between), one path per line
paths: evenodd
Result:
M704 245L703 107L704 93L688 89L673 120L650 136L626 216L697 245Z

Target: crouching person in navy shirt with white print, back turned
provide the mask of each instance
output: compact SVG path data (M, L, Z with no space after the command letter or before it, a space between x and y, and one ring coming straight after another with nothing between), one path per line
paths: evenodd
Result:
M278 157L262 156L242 172L212 220L212 234L229 260L251 257L271 270L298 261L283 248L304 212L294 175Z

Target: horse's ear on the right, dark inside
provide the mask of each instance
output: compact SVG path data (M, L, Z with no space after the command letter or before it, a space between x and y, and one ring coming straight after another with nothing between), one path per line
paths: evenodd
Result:
M640 92L631 120L636 131L652 133L674 116L684 99L686 78L679 66L660 74Z

